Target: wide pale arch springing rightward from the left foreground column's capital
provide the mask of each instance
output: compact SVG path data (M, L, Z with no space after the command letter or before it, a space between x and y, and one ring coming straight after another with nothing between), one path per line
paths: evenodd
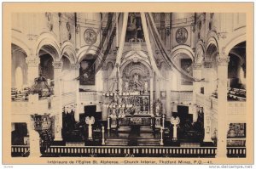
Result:
M46 47L44 49L44 47ZM36 54L39 57L39 51L43 49L46 50L48 54L50 54L54 61L61 61L61 52L58 41L52 33L43 33L38 37L38 41L36 42ZM51 50L51 52L48 51Z

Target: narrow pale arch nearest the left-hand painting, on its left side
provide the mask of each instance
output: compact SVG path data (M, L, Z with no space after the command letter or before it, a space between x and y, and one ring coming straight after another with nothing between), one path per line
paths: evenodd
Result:
M70 41L66 41L61 46L61 58L65 55L67 59L69 59L71 64L76 63L76 52L75 48L73 47L73 43Z

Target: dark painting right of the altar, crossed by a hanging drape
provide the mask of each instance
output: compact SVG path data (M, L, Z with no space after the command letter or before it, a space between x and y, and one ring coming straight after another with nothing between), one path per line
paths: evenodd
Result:
M192 60L191 59L180 59L180 66L181 68L192 76L193 69L192 69ZM181 80L182 85L193 85L193 82L186 80L186 76L182 76Z

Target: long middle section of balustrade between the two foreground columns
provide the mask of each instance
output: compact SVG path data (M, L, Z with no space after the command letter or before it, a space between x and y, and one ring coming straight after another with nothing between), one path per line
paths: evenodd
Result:
M216 147L122 147L122 146L50 146L43 156L95 156L95 157L214 157Z

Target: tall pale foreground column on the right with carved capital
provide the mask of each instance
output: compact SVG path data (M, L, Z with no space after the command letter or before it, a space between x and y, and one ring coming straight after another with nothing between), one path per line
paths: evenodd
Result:
M226 157L227 144L227 81L228 81L228 64L229 56L218 56L218 142L217 156Z

